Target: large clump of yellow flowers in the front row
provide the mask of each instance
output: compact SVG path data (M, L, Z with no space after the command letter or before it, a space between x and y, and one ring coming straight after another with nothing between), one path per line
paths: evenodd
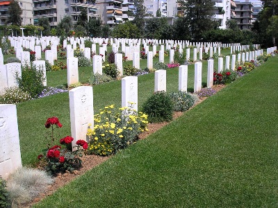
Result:
M117 150L133 144L140 132L147 130L147 115L131 110L134 103L130 104L130 107L121 107L120 111L115 110L115 105L109 105L95 114L95 126L87 133L90 154L115 154Z

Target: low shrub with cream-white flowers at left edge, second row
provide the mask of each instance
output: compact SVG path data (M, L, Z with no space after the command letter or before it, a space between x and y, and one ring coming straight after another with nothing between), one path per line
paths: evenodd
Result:
M7 87L0 95L0 104L15 104L31 100L31 95L18 87Z

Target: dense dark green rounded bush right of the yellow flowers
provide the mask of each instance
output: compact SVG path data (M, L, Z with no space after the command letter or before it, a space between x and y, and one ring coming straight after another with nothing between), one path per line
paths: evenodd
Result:
M165 92L156 92L142 104L142 112L148 115L148 120L151 123L171 121L174 104Z

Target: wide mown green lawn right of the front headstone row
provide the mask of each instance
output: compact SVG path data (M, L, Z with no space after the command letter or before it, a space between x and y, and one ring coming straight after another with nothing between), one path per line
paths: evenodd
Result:
M277 207L278 57L34 207Z

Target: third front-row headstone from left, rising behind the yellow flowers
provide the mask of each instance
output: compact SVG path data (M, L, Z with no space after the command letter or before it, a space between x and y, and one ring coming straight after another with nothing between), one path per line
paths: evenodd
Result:
M131 104L133 103L132 107ZM138 111L138 77L126 76L122 78L122 107L131 107Z

